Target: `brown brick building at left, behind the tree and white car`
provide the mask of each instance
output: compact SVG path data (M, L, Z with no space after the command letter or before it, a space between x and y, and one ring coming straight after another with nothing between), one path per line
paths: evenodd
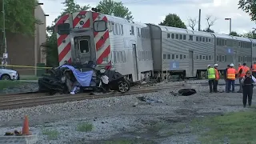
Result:
M46 63L46 54L42 51L42 43L46 42L46 15L42 7L36 6L34 17L41 21L35 25L34 37L6 33L6 45L9 65L37 66ZM36 74L34 68L11 67L20 74Z

